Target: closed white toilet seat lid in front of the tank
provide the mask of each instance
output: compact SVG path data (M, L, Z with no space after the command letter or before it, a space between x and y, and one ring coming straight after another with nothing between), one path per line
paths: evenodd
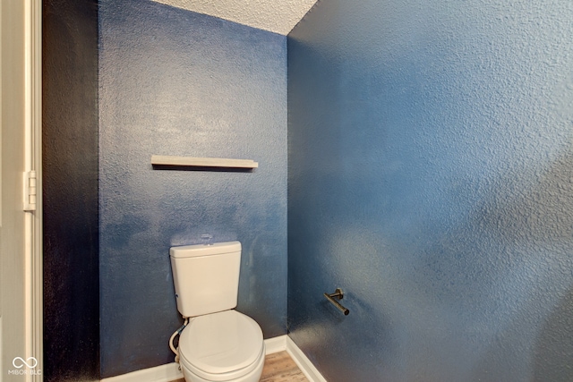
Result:
M240 378L264 358L261 327L236 310L192 318L179 339L182 365L206 380Z

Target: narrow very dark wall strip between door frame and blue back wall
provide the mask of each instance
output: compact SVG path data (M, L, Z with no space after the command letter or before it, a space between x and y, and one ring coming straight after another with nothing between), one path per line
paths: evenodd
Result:
M96 0L42 3L42 82L42 374L99 380Z

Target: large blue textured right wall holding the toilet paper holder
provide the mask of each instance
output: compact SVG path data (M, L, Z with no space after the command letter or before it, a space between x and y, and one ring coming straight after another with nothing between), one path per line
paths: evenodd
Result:
M329 0L289 34L289 330L330 382L573 380L572 20Z

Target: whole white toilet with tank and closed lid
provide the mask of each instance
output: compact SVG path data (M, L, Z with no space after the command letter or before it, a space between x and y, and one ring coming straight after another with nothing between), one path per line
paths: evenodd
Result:
M259 324L235 310L241 243L169 250L177 310L189 323L179 337L186 382L258 382L265 361Z

